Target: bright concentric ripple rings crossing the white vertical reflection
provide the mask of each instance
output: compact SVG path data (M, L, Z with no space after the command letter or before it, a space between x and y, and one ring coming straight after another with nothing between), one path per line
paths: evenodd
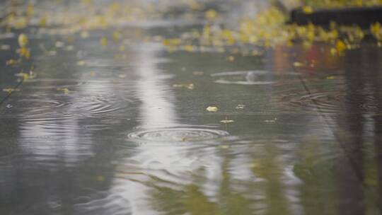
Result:
M219 129L200 127L168 127L162 129L147 129L132 132L127 135L129 139L144 141L204 141L228 136L228 132Z

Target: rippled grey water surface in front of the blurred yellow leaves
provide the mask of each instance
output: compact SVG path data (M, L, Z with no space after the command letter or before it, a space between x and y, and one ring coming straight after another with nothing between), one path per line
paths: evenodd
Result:
M158 23L2 66L0 214L381 214L381 48L168 52Z

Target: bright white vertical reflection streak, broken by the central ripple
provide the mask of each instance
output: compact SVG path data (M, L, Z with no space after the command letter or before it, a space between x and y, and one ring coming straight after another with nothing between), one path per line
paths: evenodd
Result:
M158 47L155 45L147 45L137 50L137 58L140 59L137 68L137 76L139 76L137 95L141 100L139 129L143 130L182 127L177 122L175 98L168 83L171 76L157 69L157 52ZM192 130L191 127L190 129ZM190 178L184 176L200 165L204 165L209 181L206 184L209 189L206 190L211 190L212 185L219 185L216 182L221 178L221 158L216 156L216 153L212 153L208 158L201 158L197 156L197 153L186 155L183 146L171 140L169 142L151 141L139 145L136 155L120 164L117 169L123 169L125 174L122 178L118 175L119 179L115 180L114 184L116 189L123 187L125 190L122 196L130 202L132 214L156 214L154 209L149 207L150 197L147 194L149 187L145 185L151 180L150 177L166 180L174 186L172 188L175 188L177 185L192 183ZM133 172L140 174L133 174Z

